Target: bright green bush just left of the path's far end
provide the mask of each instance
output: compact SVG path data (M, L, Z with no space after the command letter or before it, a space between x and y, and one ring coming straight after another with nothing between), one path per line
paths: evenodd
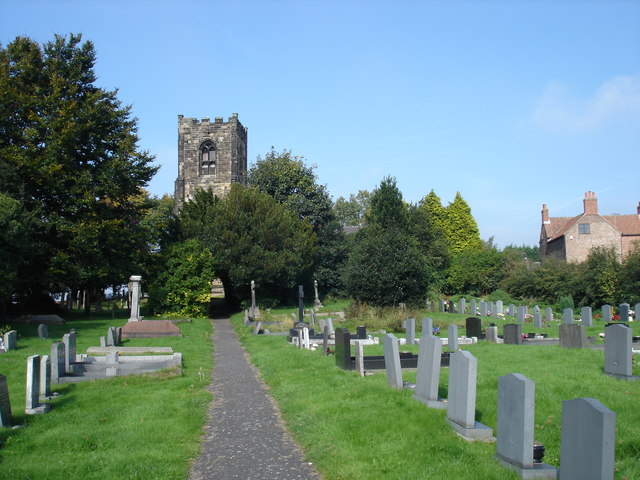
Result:
M150 282L147 306L155 313L178 317L207 317L214 259L197 239L172 245L164 252L164 268Z

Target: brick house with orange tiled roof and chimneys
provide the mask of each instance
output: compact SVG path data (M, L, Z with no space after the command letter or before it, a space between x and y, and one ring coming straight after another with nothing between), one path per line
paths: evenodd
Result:
M640 202L631 215L600 215L594 192L584 195L584 211L575 217L550 217L542 205L540 258L557 256L568 262L582 262L593 247L613 247L620 257L634 242L640 242Z

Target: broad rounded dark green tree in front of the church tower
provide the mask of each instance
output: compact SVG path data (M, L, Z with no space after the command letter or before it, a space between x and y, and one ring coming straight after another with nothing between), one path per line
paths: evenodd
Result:
M202 237L193 238L211 252L227 303L239 305L251 280L263 299L286 301L313 266L317 240L309 223L255 188L233 184L225 198L212 197L211 191L196 195L181 210L179 222L203 222L192 230Z

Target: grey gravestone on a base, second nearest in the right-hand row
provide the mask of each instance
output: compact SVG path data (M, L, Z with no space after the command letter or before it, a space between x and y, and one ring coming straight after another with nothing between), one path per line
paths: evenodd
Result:
M515 470L520 478L555 479L555 468L533 463L534 404L535 383L532 380L520 373L498 377L496 459Z

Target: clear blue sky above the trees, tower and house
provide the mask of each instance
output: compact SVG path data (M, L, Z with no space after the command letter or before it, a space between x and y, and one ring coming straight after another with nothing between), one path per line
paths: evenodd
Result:
M459 191L483 239L537 245L551 216L640 201L640 1L0 0L0 42L82 33L173 193L177 116L238 113L333 198L387 175Z

